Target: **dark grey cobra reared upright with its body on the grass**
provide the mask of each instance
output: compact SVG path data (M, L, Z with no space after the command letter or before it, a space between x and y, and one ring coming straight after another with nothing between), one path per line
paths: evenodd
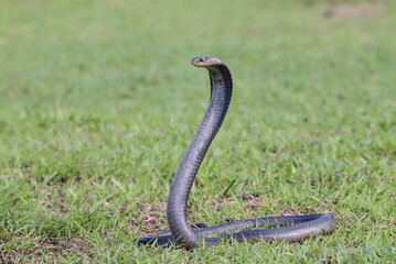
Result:
M186 209L191 187L206 151L223 123L233 95L233 78L225 63L207 55L194 57L191 63L208 70L210 103L171 185L167 207L169 230L140 238L138 243L157 246L175 244L192 250L201 245L216 245L222 241L300 242L332 232L335 229L332 213L264 217L213 227L204 223L189 224Z

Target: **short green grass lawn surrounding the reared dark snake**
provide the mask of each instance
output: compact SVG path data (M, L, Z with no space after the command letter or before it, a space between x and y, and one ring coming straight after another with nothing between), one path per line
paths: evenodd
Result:
M26 263L396 261L396 6L308 1L1 1L0 260ZM210 226L331 211L302 243L139 248L208 101L234 98L190 197ZM229 188L228 188L229 187Z

